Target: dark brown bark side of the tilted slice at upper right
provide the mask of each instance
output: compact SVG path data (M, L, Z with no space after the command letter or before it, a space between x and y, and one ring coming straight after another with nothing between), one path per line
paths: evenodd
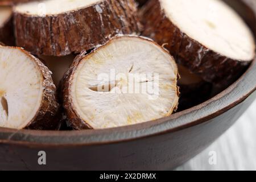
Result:
M207 82L228 85L241 76L251 63L229 59L189 38L167 18L159 0L150 0L142 8L140 16L144 36L164 44L178 64Z

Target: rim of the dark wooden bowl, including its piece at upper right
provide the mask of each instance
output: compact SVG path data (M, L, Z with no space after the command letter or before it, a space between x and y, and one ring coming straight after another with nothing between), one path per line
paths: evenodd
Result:
M256 38L256 2L254 0L224 0L232 6L249 25ZM0 128L0 142L27 142L47 144L102 144L148 137L159 133L181 130L216 117L240 104L256 90L256 59L239 80L217 96L192 107L172 114L170 117L138 125L104 130L82 131L32 131ZM250 84L249 84L250 83ZM237 92L237 90L242 90Z

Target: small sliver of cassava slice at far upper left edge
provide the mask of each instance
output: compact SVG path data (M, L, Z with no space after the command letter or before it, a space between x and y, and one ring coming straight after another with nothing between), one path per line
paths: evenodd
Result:
M13 46L13 11L10 6L0 6L0 42Z

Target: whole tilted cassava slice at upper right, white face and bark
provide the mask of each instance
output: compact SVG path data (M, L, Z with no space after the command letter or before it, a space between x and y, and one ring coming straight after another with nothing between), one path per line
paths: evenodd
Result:
M219 0L150 0L141 20L144 36L208 82L236 79L255 56L251 31Z

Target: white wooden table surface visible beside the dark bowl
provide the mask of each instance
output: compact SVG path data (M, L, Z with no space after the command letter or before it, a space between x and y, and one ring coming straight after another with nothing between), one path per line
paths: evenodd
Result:
M216 163L210 164L213 155ZM256 170L256 102L207 150L177 170Z

